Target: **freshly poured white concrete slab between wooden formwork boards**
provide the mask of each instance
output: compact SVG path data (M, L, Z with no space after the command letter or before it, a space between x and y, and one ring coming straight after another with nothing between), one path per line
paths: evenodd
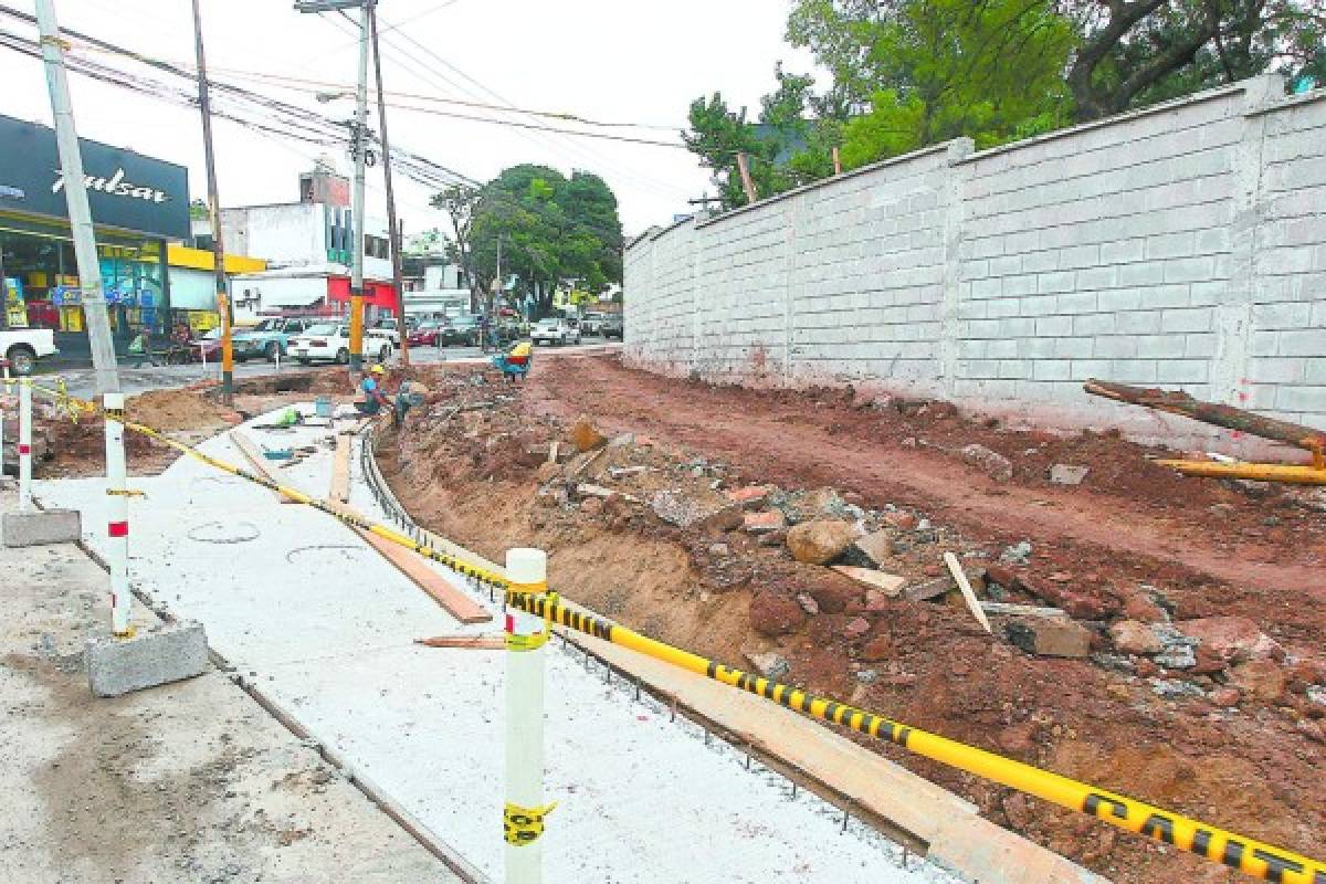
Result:
M326 429L247 432L273 448L318 445L276 472L326 494ZM203 448L240 461L225 437ZM504 655L414 644L495 632L500 620L461 627L332 517L191 459L131 485L146 492L133 502L135 584L202 620L247 680L500 880ZM103 485L42 482L37 494L84 509L93 525ZM350 505L382 517L357 461ZM101 533L86 541L99 545ZM758 765L748 771L741 751L671 722L631 685L605 684L578 652L550 648L546 786L560 802L544 836L550 884L956 880L915 857L904 868L902 851L859 822L842 834L835 808L794 797Z

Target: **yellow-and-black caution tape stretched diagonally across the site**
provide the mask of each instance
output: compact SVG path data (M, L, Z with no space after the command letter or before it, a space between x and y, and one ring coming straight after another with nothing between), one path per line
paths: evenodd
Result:
M93 403L68 396L61 390L49 390L37 384L33 384L33 388L57 396L69 414L76 414L77 410L95 411ZM947 737L911 728L847 704L826 697L817 697L800 688L772 681L749 672L743 672L741 669L732 669L715 660L640 635L611 620L574 611L561 604L556 595L545 595L546 587L541 584L513 583L505 574L476 566L456 555L440 553L427 543L416 542L406 534L385 525L370 522L357 514L335 509L300 490L282 486L264 476L257 476L217 457L206 455L191 445L175 441L151 427L127 419L123 420L123 424L126 429L155 439L163 445L216 469L247 478L263 488L285 494L300 504L313 506L346 525L371 531L378 537L408 547L419 555L446 565L480 583L499 587L504 590L508 606L542 618L549 623L591 635L595 639L610 641L662 663L693 672L695 675L705 676L765 697L812 718L842 725L869 737L887 740L931 761L937 761L949 767L983 777L1009 789L1026 793L1028 795L1034 795L1059 807L1090 814L1124 831L1144 835L1196 854L1204 859L1223 863L1253 877L1282 884L1326 884L1326 863L1236 832L1229 832L1216 826L1167 811L1155 804L1128 798L1127 795L1098 789L1090 783L1041 770L1021 761L1005 758L992 751L977 749L976 746L968 746Z

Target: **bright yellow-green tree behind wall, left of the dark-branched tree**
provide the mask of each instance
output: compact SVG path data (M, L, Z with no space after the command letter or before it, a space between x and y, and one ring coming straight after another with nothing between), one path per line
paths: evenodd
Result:
M1070 119L1062 73L1073 21L1034 0L798 0L793 45L810 49L843 101L849 167L968 135L981 147Z

